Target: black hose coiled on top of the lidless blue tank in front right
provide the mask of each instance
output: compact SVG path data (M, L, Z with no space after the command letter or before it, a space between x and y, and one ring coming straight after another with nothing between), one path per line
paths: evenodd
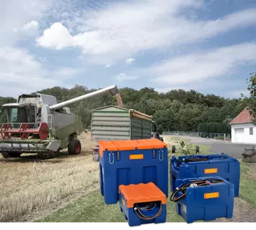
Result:
M184 198L186 196L186 190L189 186L195 185L195 186L209 186L211 183L223 183L224 181L221 179L216 178L207 178L204 180L194 180L190 183L181 184L178 188L173 191L172 195L170 196L170 201L177 202L181 198ZM182 194L175 198L175 196L178 194L178 192L181 192Z

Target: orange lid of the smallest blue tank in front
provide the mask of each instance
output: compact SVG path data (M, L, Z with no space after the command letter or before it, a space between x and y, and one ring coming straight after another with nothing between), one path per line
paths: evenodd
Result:
M122 193L127 201L127 208L132 208L134 203L161 201L167 203L165 193L155 186L155 183L139 183L137 185L119 186L119 193Z

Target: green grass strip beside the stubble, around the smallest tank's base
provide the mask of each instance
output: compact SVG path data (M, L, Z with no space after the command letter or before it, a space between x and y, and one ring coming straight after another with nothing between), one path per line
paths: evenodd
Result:
M183 224L184 220L175 214L175 203L168 201L168 216L166 223ZM99 190L88 193L79 198L76 203L71 203L65 209L60 209L54 214L34 221L33 223L70 223L70 224L127 224L119 209L119 203L106 205Z

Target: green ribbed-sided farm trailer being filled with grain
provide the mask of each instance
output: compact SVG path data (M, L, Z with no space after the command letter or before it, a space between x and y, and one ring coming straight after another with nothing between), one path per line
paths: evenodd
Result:
M136 110L109 105L92 112L91 140L150 139L152 116ZM93 160L98 160L98 145L93 148Z

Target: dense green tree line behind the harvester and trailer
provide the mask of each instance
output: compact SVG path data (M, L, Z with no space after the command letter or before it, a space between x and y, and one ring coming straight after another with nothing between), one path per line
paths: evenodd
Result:
M99 89L88 89L76 85L68 89L52 87L40 93L57 97L58 102L84 95ZM195 90L170 90L167 93L157 92L154 88L144 87L134 90L129 87L119 89L124 107L152 115L157 123L158 132L191 131L204 133L230 133L229 122L244 109L246 103L242 98L231 99L218 95L204 95ZM35 94L35 92L32 92ZM0 105L16 102L12 97L0 97ZM84 128L91 126L91 112L98 107L117 105L111 95L98 95L70 105L70 109L81 115ZM0 116L0 122L4 115Z

